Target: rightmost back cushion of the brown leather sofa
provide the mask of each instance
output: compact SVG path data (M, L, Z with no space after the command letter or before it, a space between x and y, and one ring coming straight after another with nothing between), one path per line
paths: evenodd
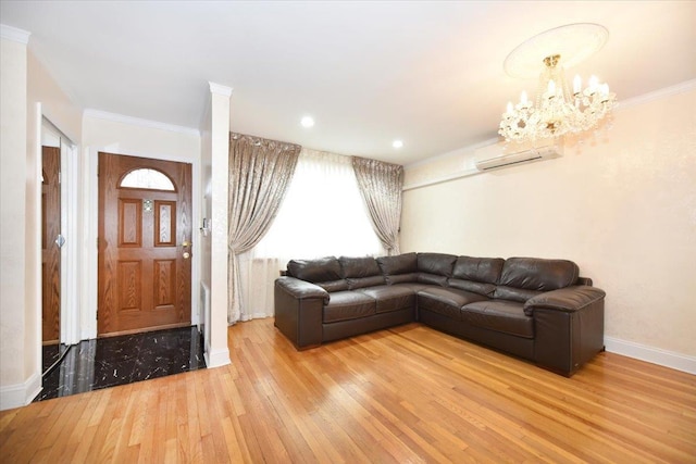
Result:
M526 301L544 291L574 285L580 269L568 260L510 258L502 266L495 298Z

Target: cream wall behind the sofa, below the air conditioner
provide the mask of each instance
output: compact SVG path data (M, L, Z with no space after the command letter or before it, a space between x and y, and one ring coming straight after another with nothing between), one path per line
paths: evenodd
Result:
M695 87L619 109L606 136L561 159L407 190L402 250L573 260L607 291L608 349L684 356L693 369ZM406 185L471 158L462 149L407 166Z

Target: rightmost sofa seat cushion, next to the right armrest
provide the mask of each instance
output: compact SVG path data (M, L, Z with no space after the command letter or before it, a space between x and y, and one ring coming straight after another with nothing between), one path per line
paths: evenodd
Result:
M462 321L476 327L534 338L534 318L524 314L524 304L508 300L476 301L461 310Z

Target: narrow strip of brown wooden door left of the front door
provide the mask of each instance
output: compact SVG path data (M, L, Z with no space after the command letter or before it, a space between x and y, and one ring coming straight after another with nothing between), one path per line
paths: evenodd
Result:
M41 147L41 340L58 343L61 321L61 149Z

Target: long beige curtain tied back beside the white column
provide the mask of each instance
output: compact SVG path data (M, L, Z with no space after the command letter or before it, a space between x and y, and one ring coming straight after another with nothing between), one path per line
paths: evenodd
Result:
M244 318L237 255L269 230L293 178L300 146L241 134L229 136L229 308L227 322Z

